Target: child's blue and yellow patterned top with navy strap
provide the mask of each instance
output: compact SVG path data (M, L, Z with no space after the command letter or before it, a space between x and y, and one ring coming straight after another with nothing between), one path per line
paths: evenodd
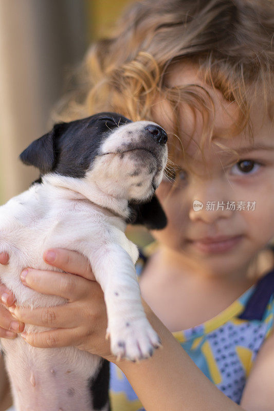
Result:
M274 270L204 324L173 335L194 363L239 404L257 354L273 329ZM111 364L112 411L141 411L129 381Z

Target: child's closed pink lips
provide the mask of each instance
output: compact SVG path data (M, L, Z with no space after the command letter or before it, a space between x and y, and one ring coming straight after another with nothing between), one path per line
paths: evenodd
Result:
M204 237L197 240L189 240L190 245L204 253L222 253L231 250L239 244L243 235Z

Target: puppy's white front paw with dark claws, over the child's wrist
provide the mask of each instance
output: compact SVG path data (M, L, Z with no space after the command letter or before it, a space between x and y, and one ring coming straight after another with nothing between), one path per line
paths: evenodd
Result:
M111 350L119 361L126 358L140 361L152 356L155 348L161 346L157 333L146 318L124 321L120 327L108 327L111 337Z

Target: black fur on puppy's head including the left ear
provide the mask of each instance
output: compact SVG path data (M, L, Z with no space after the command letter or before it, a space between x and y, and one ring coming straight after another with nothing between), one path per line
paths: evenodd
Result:
M99 113L85 119L54 125L52 130L33 141L20 155L27 165L41 174L55 172L82 178L98 154L103 140L131 120L117 113ZM39 181L38 181L39 182Z

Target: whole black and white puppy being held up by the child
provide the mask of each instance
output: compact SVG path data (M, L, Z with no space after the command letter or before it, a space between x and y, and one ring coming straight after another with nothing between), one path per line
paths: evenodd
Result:
M0 208L0 252L10 255L0 278L17 304L63 304L61 297L25 287L20 273L26 267L52 270L42 259L46 249L78 251L104 292L112 352L132 361L151 356L159 339L140 300L137 247L124 230L127 222L166 225L154 195L167 162L166 142L159 125L116 113L57 124L20 156L38 167L40 179ZM1 345L16 411L109 409L107 367L99 357L75 347L34 348L20 337Z

